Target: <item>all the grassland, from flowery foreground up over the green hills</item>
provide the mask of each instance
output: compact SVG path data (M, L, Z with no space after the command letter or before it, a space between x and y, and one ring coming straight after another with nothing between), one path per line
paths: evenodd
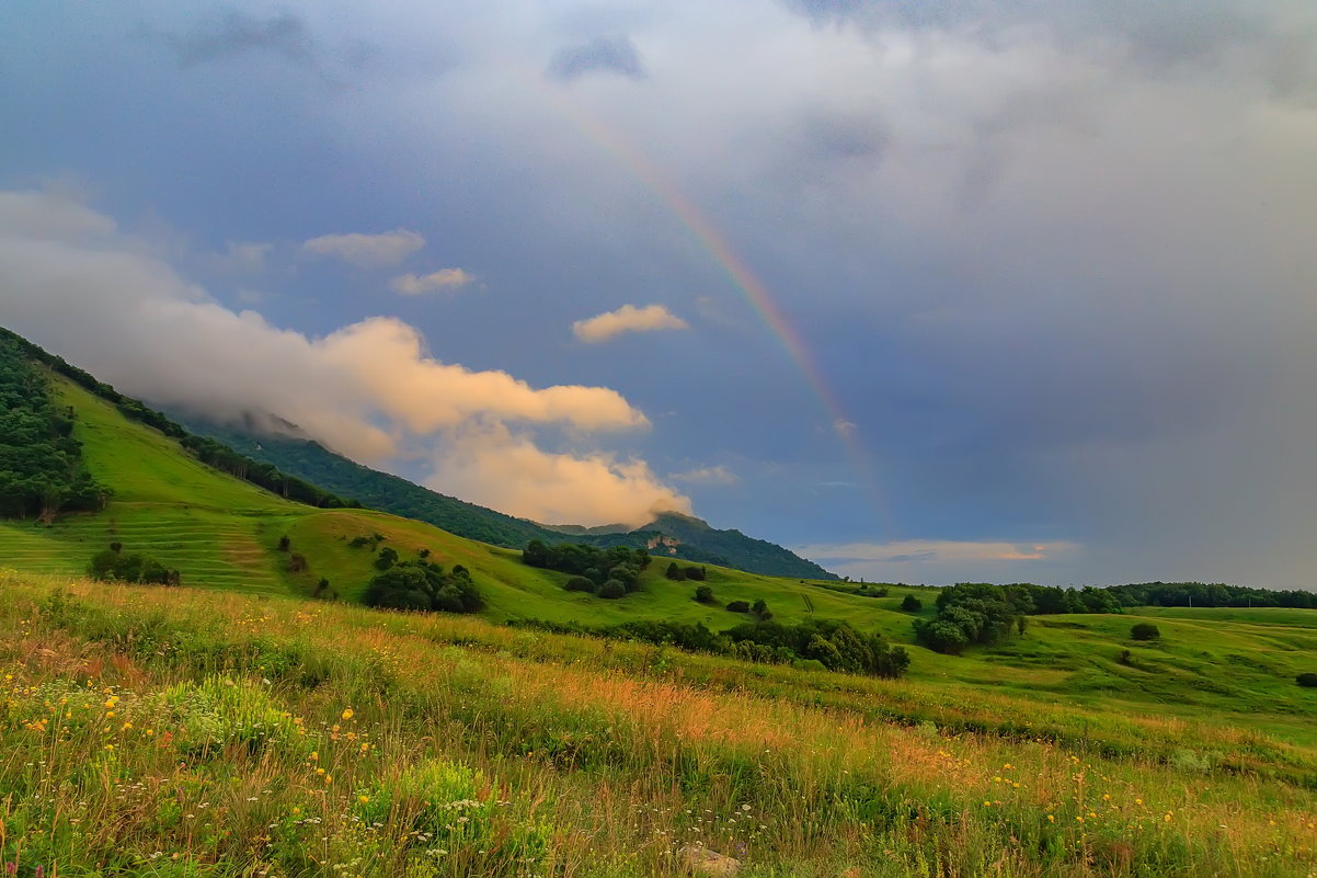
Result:
M620 600L519 552L212 471L62 380L108 508L0 522L0 862L54 875L1314 875L1317 613L1031 617L965 657L884 597L656 558ZM288 539L286 551L279 542ZM479 617L353 605L374 547L462 564ZM183 588L80 577L117 541ZM300 563L292 563L300 556ZM331 588L308 600L319 580ZM901 600L925 601L921 613ZM846 620L906 678L500 622ZM1162 638L1130 639L1137 621Z

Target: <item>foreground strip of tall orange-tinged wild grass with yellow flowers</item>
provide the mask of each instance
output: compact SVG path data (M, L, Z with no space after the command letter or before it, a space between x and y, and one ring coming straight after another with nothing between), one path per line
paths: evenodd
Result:
M1313 754L1249 729L1079 736L474 620L0 589L7 874L664 875L693 844L784 878L1317 871Z

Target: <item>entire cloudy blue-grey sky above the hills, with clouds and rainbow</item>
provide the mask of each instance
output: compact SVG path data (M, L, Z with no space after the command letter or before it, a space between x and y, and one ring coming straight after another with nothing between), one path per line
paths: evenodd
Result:
M1308 0L20 1L0 324L551 523L1313 588Z

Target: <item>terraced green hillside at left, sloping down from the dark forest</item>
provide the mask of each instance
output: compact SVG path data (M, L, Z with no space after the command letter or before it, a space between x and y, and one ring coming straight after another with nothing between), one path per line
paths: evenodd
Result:
M493 621L606 625L664 618L724 629L744 618L720 604L695 602L693 587L668 581L658 563L645 571L641 592L608 601L566 592L566 575L528 567L516 550L383 512L294 502L207 465L178 424L86 373L75 381L53 372L49 355L41 355L33 361L45 369L83 463L109 489L109 500L101 512L63 514L50 526L0 519L0 567L75 576L94 554L117 542L125 552L142 552L178 570L188 588L309 596L327 579L323 595L353 600L378 572L379 550L389 547L404 560L424 554L448 567L466 567L487 599L483 614ZM148 414L136 417L138 411ZM165 424L169 434L151 423ZM284 537L288 544L281 550ZM357 538L371 544L353 547ZM764 599L784 621L818 612L884 630L907 626L906 617L893 612L896 597L864 600L720 567L709 568L709 583L720 601Z

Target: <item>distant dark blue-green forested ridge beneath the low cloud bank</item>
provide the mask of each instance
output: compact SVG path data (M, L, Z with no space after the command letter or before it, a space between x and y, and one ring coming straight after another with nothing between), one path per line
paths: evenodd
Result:
M735 567L751 573L828 579L838 576L814 562L739 530L718 530L693 515L662 513L643 527L626 525L541 525L423 488L406 479L363 467L308 438L296 424L270 414L244 414L217 423L174 409L170 415L192 432L217 439L255 460L269 463L325 490L352 497L371 509L424 521L495 546L524 548L532 539L573 541L597 546L632 546L655 555L702 564Z

